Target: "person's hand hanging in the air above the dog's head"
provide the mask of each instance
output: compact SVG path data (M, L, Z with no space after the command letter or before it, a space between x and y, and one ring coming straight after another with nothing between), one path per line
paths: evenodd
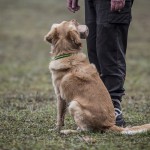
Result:
M80 6L78 5L78 0L67 0L67 8L75 13L80 9Z

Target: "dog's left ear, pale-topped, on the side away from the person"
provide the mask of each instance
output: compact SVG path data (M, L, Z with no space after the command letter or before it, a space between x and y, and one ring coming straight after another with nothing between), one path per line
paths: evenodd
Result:
M44 40L48 41L51 44L54 44L55 41L58 39L58 32L57 32L58 24L54 24L48 34L44 37Z

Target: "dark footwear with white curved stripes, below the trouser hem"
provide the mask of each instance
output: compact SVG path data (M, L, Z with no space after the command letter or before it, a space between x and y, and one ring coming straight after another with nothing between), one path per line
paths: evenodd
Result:
M116 116L116 125L120 127L125 126L125 121L123 119L122 111L121 111L121 103L118 99L112 99L114 109L115 109L115 116Z

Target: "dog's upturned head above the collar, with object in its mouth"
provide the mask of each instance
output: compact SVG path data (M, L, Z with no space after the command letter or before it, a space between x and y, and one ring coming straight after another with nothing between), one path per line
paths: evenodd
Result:
M86 38L87 35L88 28L85 25L81 26L76 20L71 20L53 24L45 40L51 43L52 54L58 55L79 51L82 46L81 38Z

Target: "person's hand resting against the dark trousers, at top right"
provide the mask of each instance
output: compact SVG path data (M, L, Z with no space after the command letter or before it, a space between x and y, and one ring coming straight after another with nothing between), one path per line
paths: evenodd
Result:
M111 11L120 11L125 6L125 0L111 0Z

